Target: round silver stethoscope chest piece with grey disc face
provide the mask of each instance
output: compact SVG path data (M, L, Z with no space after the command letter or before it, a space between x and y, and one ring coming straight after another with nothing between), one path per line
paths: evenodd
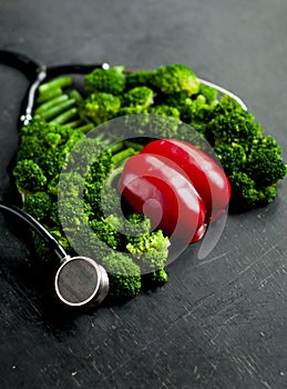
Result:
M99 306L109 292L105 269L86 257L66 257L57 271L55 292L68 306Z

